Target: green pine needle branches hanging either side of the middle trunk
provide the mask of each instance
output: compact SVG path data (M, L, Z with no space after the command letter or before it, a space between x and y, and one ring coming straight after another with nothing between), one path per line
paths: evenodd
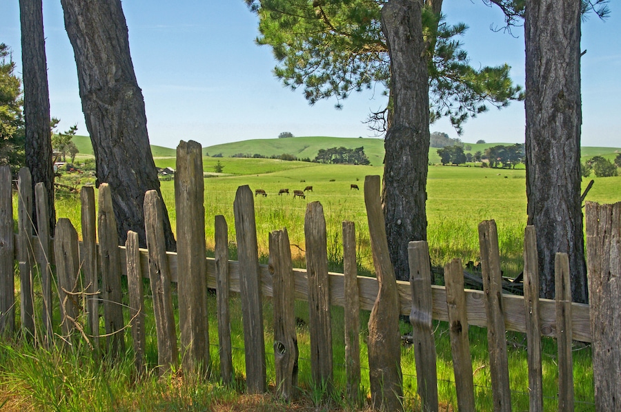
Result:
M390 85L390 59L380 21L385 0L246 0L259 17L257 44L269 45L278 61L274 73L286 87L302 87L314 104L335 97L336 107L353 91ZM440 21L438 21L440 19ZM475 69L457 40L467 30L450 25L429 6L423 10L428 45L431 123L448 116L457 132L469 117L523 99L509 66ZM388 103L390 104L390 103ZM387 110L368 123L385 131ZM376 123L377 122L377 123Z

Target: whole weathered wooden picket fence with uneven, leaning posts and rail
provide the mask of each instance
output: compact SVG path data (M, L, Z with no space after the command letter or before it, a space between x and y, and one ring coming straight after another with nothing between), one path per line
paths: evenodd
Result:
M595 407L598 411L621 409L621 203L586 205L589 287L593 305L571 302L569 263L565 254L556 256L556 300L538 298L538 256L535 231L526 227L524 238L524 296L502 293L500 257L493 220L479 225L484 290L464 289L459 259L444 268L446 287L431 285L431 267L425 242L408 246L410 282L395 281L388 260L384 217L380 208L380 178L367 176L364 198L376 278L357 276L355 227L343 223L344 274L328 273L326 223L322 205L309 203L304 230L306 270L293 269L286 229L269 237L268 265L259 265L253 194L239 187L235 197L235 229L238 260L228 260L228 227L224 216L215 216L215 258L205 258L204 186L201 147L181 142L177 148L175 203L177 253L164 247L161 200L155 191L144 200L147 249L138 246L130 232L126 245L119 246L112 211L110 188L99 187L95 216L95 191L81 190L82 241L68 219L59 219L55 238L46 230L46 192L37 185L36 216L42 222L32 236L32 183L28 169L19 173L18 233L14 234L11 175L0 167L0 333L16 327L14 260L19 262L21 331L29 339L52 338L52 271L55 267L63 334L78 334L103 347L111 356L125 353L122 331L121 274L128 279L132 344L136 367L144 370L145 327L142 278L150 279L157 331L159 370L179 363L184 370L204 371L212 363L209 355L206 293L217 291L219 365L224 382L233 380L229 307L230 292L242 302L246 347L246 385L250 393L266 391L266 355L262 299L273 298L275 380L286 399L297 384L298 349L293 317L294 300L309 303L311 374L327 393L333 385L331 305L345 308L346 393L359 396L359 316L371 311L368 325L368 364L373 406L389 411L402 405L399 315L409 315L415 341L418 393L425 411L437 411L437 373L432 320L449 322L455 369L457 404L460 411L474 411L475 391L468 340L469 325L486 327L495 411L511 410L506 331L525 332L528 340L529 396L531 411L542 411L541 337L558 340L559 410L573 410L571 342L592 342ZM97 225L96 225L97 222ZM97 226L97 229L96 229ZM97 236L96 236L97 234ZM98 239L98 243L97 243ZM35 308L33 268L41 274L42 307ZM80 280L81 279L81 280ZM171 297L171 282L179 292L180 348ZM78 287L83 285L83 287ZM101 285L99 287L98 285ZM75 322L77 308L88 313L86 326ZM103 306L105 335L100 334L99 306ZM41 336L35 333L35 312L42 316ZM213 319L211 319L213 321ZM100 344L100 340L101 342Z

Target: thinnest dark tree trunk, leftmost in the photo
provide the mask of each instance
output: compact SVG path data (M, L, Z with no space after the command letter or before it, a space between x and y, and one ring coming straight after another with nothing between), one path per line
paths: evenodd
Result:
M19 17L21 20L23 114L26 122L26 165L32 174L32 184L36 185L41 182L46 187L50 233L54 234L56 212L52 136L50 134L50 94L41 0L19 0ZM32 200L34 201L34 197ZM34 209L33 203L32 210ZM33 214L32 219L36 218L36 214ZM36 222L34 222L34 227L37 227Z

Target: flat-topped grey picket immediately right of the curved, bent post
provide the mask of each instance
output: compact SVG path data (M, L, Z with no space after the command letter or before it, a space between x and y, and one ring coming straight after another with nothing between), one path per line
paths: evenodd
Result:
M431 259L429 248L424 240L408 244L408 265L412 288L410 323L414 340L418 394L424 411L437 411L437 371L431 307Z

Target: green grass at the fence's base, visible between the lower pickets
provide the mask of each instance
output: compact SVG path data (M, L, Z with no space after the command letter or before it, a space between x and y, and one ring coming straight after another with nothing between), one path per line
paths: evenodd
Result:
M148 285L146 285L148 286ZM148 289L146 289L148 290ZM177 309L176 295L175 309ZM56 315L57 313L57 307ZM366 324L368 312L361 312L360 333L362 364L362 402L351 404L344 396L344 325L342 308L333 307L333 362L335 391L326 395L311 380L310 339L308 336L308 304L297 301L299 345L298 396L286 403L275 395L273 353L273 313L270 301L264 302L264 333L269 391L265 395L247 395L244 383L244 335L239 296L231 299L231 337L235 382L228 386L219 380L219 356L216 346L215 296L208 297L210 314L211 373L205 376L186 375L180 369L159 376L157 373L157 342L152 301L146 300L147 351L145 373L139 375L133 364L129 331L126 331L128 350L124 356L111 360L90 350L79 337L68 338L63 344L58 338L51 347L34 347L23 340L0 343L0 404L10 411L360 411L368 408L368 360L366 353ZM177 311L175 310L177 313ZM103 324L101 325L103 330ZM177 327L178 329L178 327ZM401 325L402 332L409 331ZM59 331L57 331L59 332ZM455 376L453 375L449 329L445 322L435 322L438 392L442 410L456 409ZM475 381L477 411L491 411L491 382L487 356L486 330L469 330ZM66 337L67 338L67 337ZM526 341L522 333L508 333L511 398L514 411L528 410L528 372ZM556 393L558 367L555 340L545 338L543 349L544 409L557 409ZM593 409L593 373L591 350L575 344L573 352L576 411ZM402 347L404 407L420 411L412 347Z

